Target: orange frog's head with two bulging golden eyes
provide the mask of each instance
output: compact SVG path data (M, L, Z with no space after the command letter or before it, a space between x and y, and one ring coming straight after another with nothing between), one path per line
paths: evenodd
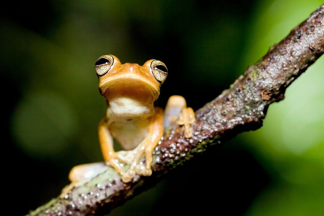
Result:
M95 69L99 78L99 91L110 103L122 106L129 103L134 106L152 106L158 98L160 87L168 75L167 66L158 60L149 60L138 64L121 64L113 55L101 56ZM129 107L130 108L130 107Z

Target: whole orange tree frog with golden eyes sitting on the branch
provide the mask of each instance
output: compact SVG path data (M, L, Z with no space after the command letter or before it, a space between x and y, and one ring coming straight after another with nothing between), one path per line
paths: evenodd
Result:
M101 56L95 69L99 78L99 92L106 98L107 112L98 125L98 135L105 163L75 166L69 175L73 182L92 176L102 166L112 166L123 182L130 182L135 174L152 174L152 151L172 122L183 125L186 138L192 136L194 112L182 96L168 99L165 111L154 106L160 87L168 76L167 66L158 60L144 65L125 63L113 55ZM124 150L115 152L115 138ZM143 157L145 163L142 163ZM127 170L124 167L129 165Z

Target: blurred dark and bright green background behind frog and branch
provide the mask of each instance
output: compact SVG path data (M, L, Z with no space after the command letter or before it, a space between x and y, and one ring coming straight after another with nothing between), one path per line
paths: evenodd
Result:
M180 94L196 110L323 2L8 3L0 27L4 175L6 199L22 199L14 209L22 215L57 196L70 168L102 160L99 56L163 61L169 75L156 104ZM321 57L270 106L261 129L215 146L110 215L323 215L323 68Z

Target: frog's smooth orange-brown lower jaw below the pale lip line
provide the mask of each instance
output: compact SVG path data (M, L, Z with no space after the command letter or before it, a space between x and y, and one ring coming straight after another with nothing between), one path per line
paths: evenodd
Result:
M115 97L130 97L155 101L159 89L140 77L114 77L99 85L100 94L107 100Z

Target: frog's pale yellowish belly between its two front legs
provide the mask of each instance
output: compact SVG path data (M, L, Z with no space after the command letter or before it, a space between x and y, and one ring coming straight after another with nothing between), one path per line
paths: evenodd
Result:
M148 119L112 123L110 132L118 140L125 150L132 150L142 142L149 131L150 121Z

